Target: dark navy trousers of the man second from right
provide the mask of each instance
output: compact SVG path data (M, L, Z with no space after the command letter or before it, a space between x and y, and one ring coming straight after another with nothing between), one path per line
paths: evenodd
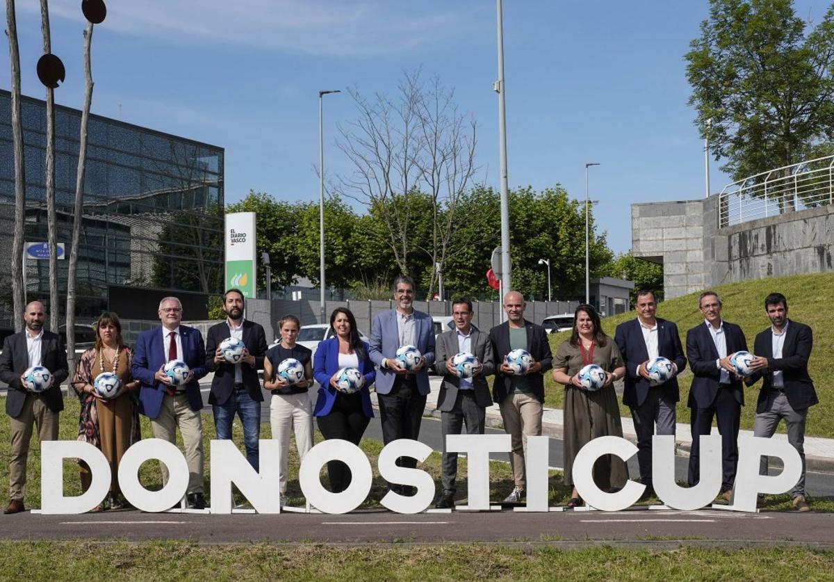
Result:
M697 484L701 474L699 451L701 444L698 437L710 434L712 417L718 419L718 432L721 434L721 490L732 489L736 481L738 467L738 429L741 424L741 404L729 389L720 388L715 401L708 409L692 410L692 448L689 453L689 484Z

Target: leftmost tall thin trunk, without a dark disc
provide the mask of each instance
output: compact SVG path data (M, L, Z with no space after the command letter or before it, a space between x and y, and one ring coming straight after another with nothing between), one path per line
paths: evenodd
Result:
M14 0L6 0L6 36L12 65L12 139L14 142L14 235L12 239L12 300L15 331L23 329L23 224L26 222L26 165L23 163L23 124L20 113L20 52Z

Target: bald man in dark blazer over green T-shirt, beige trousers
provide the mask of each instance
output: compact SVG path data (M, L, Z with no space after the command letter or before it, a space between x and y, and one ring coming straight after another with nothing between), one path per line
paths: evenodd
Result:
M518 291L510 291L504 296L507 321L490 329L496 364L492 399L499 404L504 429L512 439L510 464L515 488L504 499L506 504L520 504L525 497L527 437L541 434L544 374L553 367L553 354L545 329L524 319L526 307L524 296ZM533 360L530 369L521 376L513 375L513 370L504 361L514 349L527 350Z

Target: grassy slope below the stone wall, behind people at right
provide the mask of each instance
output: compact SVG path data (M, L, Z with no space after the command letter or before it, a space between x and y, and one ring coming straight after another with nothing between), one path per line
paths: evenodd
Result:
M778 292L785 295L789 306L788 317L811 325L814 329L814 349L811 353L809 370L811 378L814 379L820 404L811 407L808 413L806 434L834 438L834 378L827 374L831 369L830 364L827 363L831 362L834 356L834 334L831 333L834 329L834 311L830 306L831 299L834 298L834 274L766 278L721 285L715 290L721 294L724 304L721 316L726 321L741 325L749 349L753 349L753 339L756 338L756 334L770 325L764 309L764 299L767 294ZM670 299L661 303L657 309L659 317L677 324L684 349L686 349L686 331L703 322L701 312L697 308L698 295L690 294ZM606 334L613 336L617 324L634 317L636 317L634 312L615 315L603 319L602 326ZM569 337L569 332L550 336L554 353L555 349ZM677 407L678 422L689 422L686 399L691 381L692 376L687 367L685 374L681 374L680 377L681 402ZM564 389L553 381L550 374L547 374L546 382L545 404L553 408L561 408ZM753 428L756 398L760 387L761 382L746 389L746 405L741 411L742 429ZM627 407L620 406L620 409L624 416L630 416ZM781 424L780 428L783 432L784 424Z

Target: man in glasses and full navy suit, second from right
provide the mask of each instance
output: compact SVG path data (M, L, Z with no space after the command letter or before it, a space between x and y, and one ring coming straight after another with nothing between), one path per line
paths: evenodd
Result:
M744 387L730 363L732 354L747 351L744 332L736 324L721 320L721 298L715 291L705 291L698 298L698 309L704 323L686 332L686 355L695 379L686 403L691 409L692 448L689 453L689 484L700 476L701 434L712 431L712 417L718 421L721 434L721 495L732 499L733 483L738 466L738 429Z

